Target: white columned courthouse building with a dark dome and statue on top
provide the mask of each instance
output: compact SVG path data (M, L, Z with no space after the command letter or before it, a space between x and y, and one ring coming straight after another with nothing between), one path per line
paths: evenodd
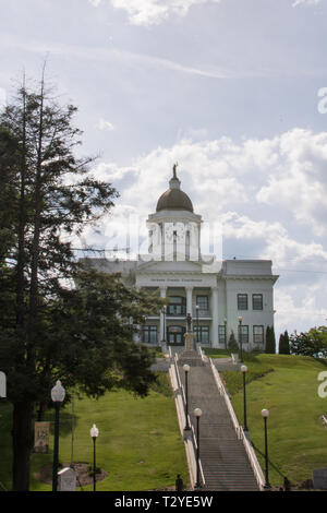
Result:
M149 214L148 253L135 260L87 259L99 271L120 272L126 284L157 289L168 298L158 315L148 317L138 339L154 345L184 343L185 317L193 319L195 342L225 348L231 332L245 350L265 348L274 325L274 284L269 260L218 260L201 251L202 216L181 190L177 166L169 189Z

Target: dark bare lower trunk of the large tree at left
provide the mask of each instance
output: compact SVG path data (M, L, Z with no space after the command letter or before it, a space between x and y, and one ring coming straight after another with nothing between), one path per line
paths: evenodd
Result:
M31 450L33 448L32 403L15 403L13 408L13 484L14 491L28 491Z

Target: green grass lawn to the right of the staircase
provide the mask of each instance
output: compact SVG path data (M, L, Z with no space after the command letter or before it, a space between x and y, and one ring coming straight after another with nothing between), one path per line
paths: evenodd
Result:
M326 361L310 357L257 355L245 361L247 426L251 440L264 468L263 408L269 409L269 480L281 486L283 476L292 484L312 478L314 468L327 467L327 428L320 416L327 413L327 399L317 389ZM243 423L241 372L222 372L227 389Z

